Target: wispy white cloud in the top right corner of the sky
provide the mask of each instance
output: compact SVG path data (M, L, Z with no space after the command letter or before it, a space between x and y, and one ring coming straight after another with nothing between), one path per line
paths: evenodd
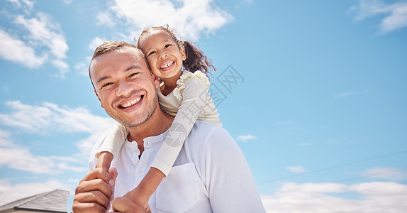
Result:
M407 26L407 2L384 3L378 0L360 0L358 6L353 6L350 11L358 11L356 21L385 14L381 20L380 31L387 33Z

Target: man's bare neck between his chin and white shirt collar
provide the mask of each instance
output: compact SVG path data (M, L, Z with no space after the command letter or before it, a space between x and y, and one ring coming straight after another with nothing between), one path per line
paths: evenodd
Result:
M155 109L154 113L145 121L144 124L136 127L127 127L128 130L128 141L135 141L138 144L138 149L140 154L144 151L144 138L150 136L158 136L169 129L169 127L174 121L174 117L162 111L160 107Z

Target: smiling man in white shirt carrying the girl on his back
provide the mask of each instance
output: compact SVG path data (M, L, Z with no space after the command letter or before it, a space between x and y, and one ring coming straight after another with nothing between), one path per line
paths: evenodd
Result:
M106 212L113 194L113 210L145 212L123 195L143 179L174 120L160 109L160 81L138 48L118 41L96 48L89 75L101 107L129 133L111 165L117 173L96 168L79 182L74 212ZM91 169L96 166L94 154L101 141L91 153ZM201 121L194 124L149 206L151 212L264 212L238 145L225 129Z

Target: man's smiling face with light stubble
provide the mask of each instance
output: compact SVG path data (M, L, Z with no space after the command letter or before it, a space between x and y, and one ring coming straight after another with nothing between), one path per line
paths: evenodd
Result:
M94 58L91 80L101 107L124 126L143 124L159 107L156 89L160 82L147 69L144 58L131 48Z

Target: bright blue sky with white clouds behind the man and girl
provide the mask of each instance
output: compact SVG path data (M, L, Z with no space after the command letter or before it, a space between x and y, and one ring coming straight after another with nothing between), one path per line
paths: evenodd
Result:
M407 208L407 1L0 1L0 204L73 193L113 124L94 48L169 23L216 66L267 212Z

